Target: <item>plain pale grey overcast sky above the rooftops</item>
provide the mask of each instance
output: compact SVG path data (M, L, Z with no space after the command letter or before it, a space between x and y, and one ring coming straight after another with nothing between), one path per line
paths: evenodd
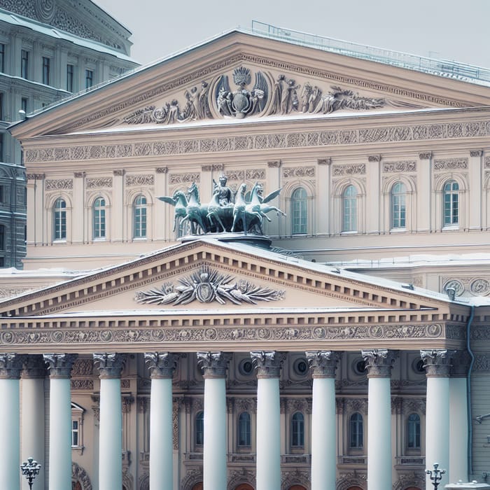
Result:
M252 20L490 68L490 0L93 0L146 64Z

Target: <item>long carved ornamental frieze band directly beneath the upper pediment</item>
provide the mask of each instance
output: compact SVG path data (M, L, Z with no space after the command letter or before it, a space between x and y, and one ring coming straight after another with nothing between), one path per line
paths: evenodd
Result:
M476 134L469 134L467 131L468 125L466 124L446 123L445 125L447 127L447 133L452 133L451 136L448 136L448 138L490 136L490 120L480 121L479 123L475 124L478 126L478 131L476 132ZM218 144L218 140L220 140L221 138L155 141L153 144L151 144L152 149L150 155L186 155L190 153L221 153L223 151L263 150L274 148L309 148L328 145L424 141L427 139L431 139L428 137L430 127L431 125L427 125L424 127L426 129L422 130L423 127L421 126L390 126L371 128L369 130L331 130L290 133L282 136L278 136L277 134L237 136L230 137L230 139L228 139L228 143L225 145L225 148ZM432 139L443 138L444 136L442 134L439 134L439 136L435 136ZM127 151L129 152L129 148L127 148ZM131 154L126 153L125 156L137 157L138 155L133 151L133 153ZM53 160L53 155L51 153L41 152L36 149L27 150L25 152L25 158L27 163L55 161ZM71 161L87 160L87 158L116 158L116 151L110 146L70 148Z

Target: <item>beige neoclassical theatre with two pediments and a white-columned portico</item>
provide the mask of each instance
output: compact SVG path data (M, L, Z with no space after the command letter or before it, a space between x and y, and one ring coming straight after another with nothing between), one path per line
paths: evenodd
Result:
M0 488L490 472L490 73L255 27L10 127Z

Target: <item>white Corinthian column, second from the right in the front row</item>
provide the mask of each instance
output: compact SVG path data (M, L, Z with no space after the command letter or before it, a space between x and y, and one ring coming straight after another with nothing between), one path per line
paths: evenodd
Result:
M395 352L362 352L367 369L367 490L391 490L391 369Z

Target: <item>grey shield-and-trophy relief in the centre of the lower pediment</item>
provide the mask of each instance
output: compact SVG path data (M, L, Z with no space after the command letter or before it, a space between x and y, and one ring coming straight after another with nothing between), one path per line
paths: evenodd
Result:
M138 291L134 299L144 304L189 304L218 302L226 304L257 304L258 301L282 300L284 291L254 286L248 281L235 281L229 274L216 269L201 267L190 276L179 279L179 286L165 283L160 288Z

